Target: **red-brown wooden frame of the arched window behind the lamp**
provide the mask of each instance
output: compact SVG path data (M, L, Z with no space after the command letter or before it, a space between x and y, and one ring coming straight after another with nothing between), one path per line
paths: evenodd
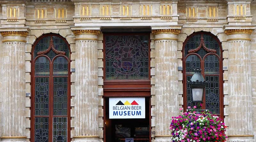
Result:
M187 54L186 56L184 56L184 52L185 52L185 47L186 47L186 43L188 42L188 40L193 37L194 35L197 35L197 34L206 34L206 35L210 35L212 36L217 42L218 42L218 45L220 47L220 56L215 54L215 53L207 53L204 55L203 58L201 58L200 55L198 55L197 53L189 53ZM223 104L223 97L224 97L224 94L223 94L223 67L222 67L222 61L223 61L223 58L222 58L222 46L221 46L221 42L220 40L218 39L217 36L211 34L211 33L207 33L207 32L195 32L191 35L189 35L186 40L183 42L183 47L182 47L182 64L183 64L183 67L182 67L182 74L183 74L183 94L182 94L182 97L183 97L183 108L186 109L187 108L187 76L192 76L193 74L190 74L190 75L186 75L186 59L188 56L190 55L196 55L199 57L200 59L200 66L201 66L201 73L202 75L205 77L205 74L204 74L204 59L206 56L208 55L215 55L218 57L219 59L219 65L220 65L220 69L219 69L219 86L220 86L220 90L219 90L219 95L220 95L220 117L222 119L224 119L224 114L223 114L223 109L224 109L224 104ZM202 59L202 60L201 60ZM206 76L217 76L217 74L207 74ZM203 106L202 108L205 108L205 91L204 91L204 95L203 95Z

